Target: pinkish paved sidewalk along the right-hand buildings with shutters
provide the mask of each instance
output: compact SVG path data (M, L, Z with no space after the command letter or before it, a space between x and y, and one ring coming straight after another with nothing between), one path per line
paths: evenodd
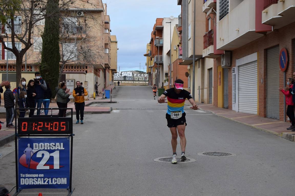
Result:
M188 101L187 103L189 104ZM226 108L217 108L213 106L213 104L197 103L197 105L201 110L204 110L206 112L213 113L222 118L226 118L258 130L272 133L284 139L295 142L295 132L291 132L291 130L286 129L291 125L291 123L289 122L283 122L281 120L271 118L263 118L256 114L236 112L234 110L229 110Z

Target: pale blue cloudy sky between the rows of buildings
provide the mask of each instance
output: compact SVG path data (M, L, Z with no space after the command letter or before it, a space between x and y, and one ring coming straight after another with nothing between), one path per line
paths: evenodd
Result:
M156 18L175 18L181 13L177 0L103 0L110 16L111 35L117 36L117 71L146 71L146 44ZM141 63L141 65L140 65ZM144 69L143 69L144 68Z

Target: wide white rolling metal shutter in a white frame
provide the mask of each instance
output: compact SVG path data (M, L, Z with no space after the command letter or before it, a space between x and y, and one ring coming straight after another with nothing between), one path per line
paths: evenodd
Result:
M257 61L239 68L239 112L257 114Z

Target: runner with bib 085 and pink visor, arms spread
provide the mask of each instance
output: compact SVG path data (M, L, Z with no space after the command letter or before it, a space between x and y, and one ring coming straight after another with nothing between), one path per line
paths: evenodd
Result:
M166 101L166 98L168 102ZM186 119L184 102L186 98L191 103L191 109L197 110L198 106L196 105L194 99L191 97L191 94L183 90L183 81L177 79L174 83L174 88L167 89L159 98L158 103L168 103L168 110L166 113L167 126L170 128L172 139L171 145L173 150L172 162L173 164L177 163L176 159L176 146L177 146L177 132L180 137L180 146L181 146L181 161L186 160L185 156L185 147L186 147L186 138L184 135Z

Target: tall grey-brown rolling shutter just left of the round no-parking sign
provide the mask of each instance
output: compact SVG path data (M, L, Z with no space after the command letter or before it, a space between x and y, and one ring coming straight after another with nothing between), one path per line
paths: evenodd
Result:
M266 117L280 119L279 46L267 49Z

